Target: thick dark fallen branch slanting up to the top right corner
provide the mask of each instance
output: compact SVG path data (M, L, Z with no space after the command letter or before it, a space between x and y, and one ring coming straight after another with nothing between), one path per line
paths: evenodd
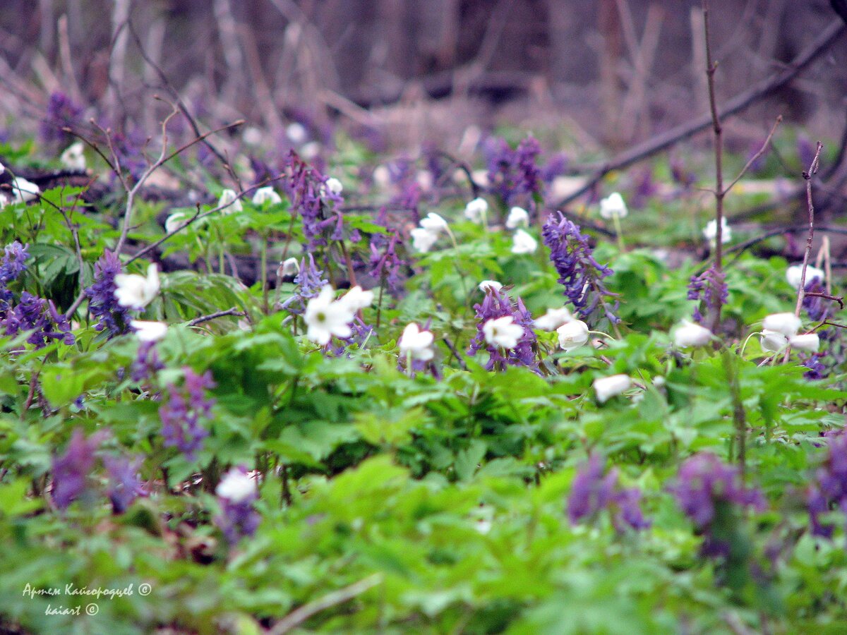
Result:
M758 102L763 97L767 97L773 92L778 91L788 84L790 80L793 80L796 75L800 75L822 52L831 47L840 36L844 35L845 30L847 30L847 25L844 25L843 22L833 22L826 30L822 30L815 41L805 51L794 58L794 61L787 64L783 70L761 80L756 86L750 88L749 91L745 91L726 102L719 116L728 117L731 114L738 113L751 104ZM601 182L606 174L628 168L630 165L651 157L657 152L662 152L662 150L675 145L678 141L684 141L690 136L706 130L712 123L711 113L706 114L698 119L689 121L687 124L678 125L676 128L668 130L662 135L656 135L649 141L639 143L639 145L617 155L617 157L612 158L610 161L602 163L596 167L595 173L591 175L590 179L582 187L563 198L557 207L564 207L567 203L575 201L579 196L590 191L595 185Z

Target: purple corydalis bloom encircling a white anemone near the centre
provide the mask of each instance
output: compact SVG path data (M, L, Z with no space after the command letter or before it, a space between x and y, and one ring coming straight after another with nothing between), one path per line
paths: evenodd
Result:
M477 318L477 334L468 346L468 355L476 355L478 351L488 351L488 362L485 368L488 370L504 370L507 366L526 366L537 372L538 364L535 362L535 344L537 338L533 330L533 318L523 306L523 300L512 303L512 299L503 290L496 290L492 286L485 287L485 299L482 304L473 305ZM523 336L518 340L514 348L503 351L501 348L490 345L485 340L484 325L489 320L498 317L511 316L515 324L523 327Z

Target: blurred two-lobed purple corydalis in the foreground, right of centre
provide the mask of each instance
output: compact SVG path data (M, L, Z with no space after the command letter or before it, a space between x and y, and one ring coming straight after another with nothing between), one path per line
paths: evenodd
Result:
M567 517L572 525L595 516L603 509L612 511L612 522L618 530L626 524L634 529L650 527L641 511L638 489L623 489L617 483L617 468L606 472L600 456L592 455L573 478L567 499Z

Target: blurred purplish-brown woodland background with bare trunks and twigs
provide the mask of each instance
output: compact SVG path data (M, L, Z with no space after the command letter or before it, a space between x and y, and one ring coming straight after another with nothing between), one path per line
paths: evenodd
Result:
M839 20L828 0L713 5L719 102ZM0 109L36 130L61 119L60 95L153 135L168 109L153 95L179 94L209 125L243 118L271 139L296 121L456 147L507 122L615 151L706 113L704 51L692 0L0 0ZM838 138L845 86L841 37L729 141L761 142L780 113Z

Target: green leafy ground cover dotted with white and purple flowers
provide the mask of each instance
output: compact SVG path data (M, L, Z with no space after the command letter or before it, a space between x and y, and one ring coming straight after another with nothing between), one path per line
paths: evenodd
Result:
M177 203L0 148L5 630L844 632L826 249L716 270L696 165L566 216L531 137L337 142L241 192L163 144Z

